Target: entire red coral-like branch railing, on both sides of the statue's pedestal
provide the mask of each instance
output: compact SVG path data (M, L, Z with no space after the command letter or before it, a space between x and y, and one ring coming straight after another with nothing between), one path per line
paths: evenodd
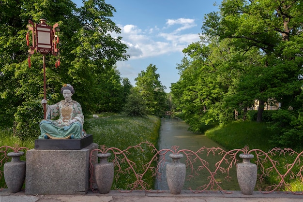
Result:
M144 155L146 150L144 148L151 148L152 159L149 162L142 165L137 165L133 160L133 157L130 158L133 154L131 151L136 150L136 153L139 155ZM8 157L7 153L9 150L18 152L20 150L28 150L26 147L17 147L17 146L1 146L0 147L0 168L5 162L7 162ZM111 153L111 161L115 165L115 178L119 180L121 174L131 173L136 176L136 180L129 184L129 189L124 190L125 192L130 192L135 189L143 189L146 191L156 191L161 192L161 190L152 190L147 182L144 180L144 176L152 173L153 177L159 178L161 180L161 168L170 161L167 158L168 154L183 154L183 161L186 164L186 178L187 180L193 180L196 178L203 177L206 180L206 183L197 185L197 188L188 188L194 193L200 193L206 190L221 190L225 193L231 193L223 188L223 182L216 179L217 175L224 174L224 181L230 180L231 172L234 172L234 169L237 163L242 162L239 158L239 154L253 154L255 156L252 159L252 163L257 164L258 167L258 182L257 189L262 193L271 193L273 191L289 191L293 194L303 194L303 191L293 191L293 188L288 183L289 180L296 179L301 183L303 182L303 165L302 158L303 152L298 153L290 148L273 148L269 152L264 152L260 149L251 149L249 150L248 146L245 146L242 149L233 149L230 151L225 151L219 147L201 147L197 151L191 151L189 149L179 149L178 146L173 146L170 149L161 149L157 150L153 144L148 142L143 142L135 146L130 146L124 150L115 147L107 148L105 145L100 145L100 149L94 149L91 151L90 155L90 171L91 176L93 176L93 166L97 161L97 157L94 155L97 152L100 153ZM285 157L283 159L291 159L291 162L277 161L276 157ZM216 163L210 165L209 159L217 158ZM281 158L280 158L281 159ZM156 163L155 163L156 162ZM123 166L121 166L123 164ZM126 165L126 167L125 167ZM140 168L140 169L138 169ZM282 168L282 169L281 169ZM138 171L140 170L140 171ZM200 176L202 171L204 172L203 176ZM206 174L205 174L206 173ZM267 182L270 175L275 175L276 180L274 183ZM2 178L3 173L0 171L0 179ZM234 177L234 176L233 176ZM91 177L91 185L93 184L93 177ZM264 186L265 185L265 186ZM91 187L92 190L93 187ZM121 190L123 191L123 190Z

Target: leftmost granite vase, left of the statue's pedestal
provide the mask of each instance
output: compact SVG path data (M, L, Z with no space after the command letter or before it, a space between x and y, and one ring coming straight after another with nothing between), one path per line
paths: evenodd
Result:
M11 193L19 192L25 180L25 161L20 160L24 152L10 152L7 156L12 157L10 162L4 163L3 173L6 186Z

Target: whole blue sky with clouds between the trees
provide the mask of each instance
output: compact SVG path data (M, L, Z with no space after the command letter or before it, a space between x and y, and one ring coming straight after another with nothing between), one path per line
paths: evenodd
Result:
M78 6L82 0L72 0ZM176 70L182 50L199 41L204 15L218 10L221 0L106 0L115 9L111 19L121 28L127 44L127 61L117 63L121 77L135 86L138 73L152 64L160 82L170 92L170 84L179 80ZM115 37L113 35L113 37Z

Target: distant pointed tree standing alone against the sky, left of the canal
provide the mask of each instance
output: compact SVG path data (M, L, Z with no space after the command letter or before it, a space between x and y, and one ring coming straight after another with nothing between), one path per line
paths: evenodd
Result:
M162 86L159 81L160 75L156 71L156 66L152 64L146 68L146 71L141 71L135 79L135 89L145 101L148 113L162 116L167 111L167 93L165 92L166 87Z

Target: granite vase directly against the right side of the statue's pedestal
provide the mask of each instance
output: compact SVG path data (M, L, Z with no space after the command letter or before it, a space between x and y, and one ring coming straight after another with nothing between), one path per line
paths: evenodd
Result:
M100 162L94 165L94 177L100 194L107 194L114 180L114 164L108 162L107 158L110 153L99 153L97 156Z

